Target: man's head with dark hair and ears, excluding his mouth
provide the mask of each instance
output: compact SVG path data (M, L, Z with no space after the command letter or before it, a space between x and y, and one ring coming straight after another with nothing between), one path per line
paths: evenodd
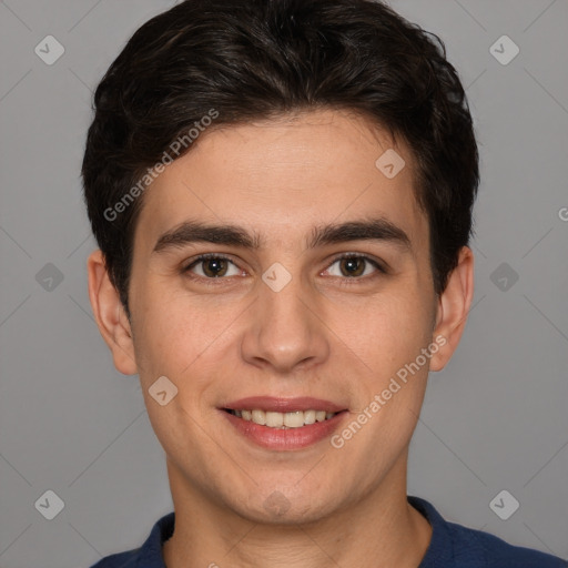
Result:
M369 0L182 2L97 89L82 175L95 317L179 486L294 519L403 483L473 295L478 154L438 38ZM251 445L225 415L258 395L332 402L335 444Z

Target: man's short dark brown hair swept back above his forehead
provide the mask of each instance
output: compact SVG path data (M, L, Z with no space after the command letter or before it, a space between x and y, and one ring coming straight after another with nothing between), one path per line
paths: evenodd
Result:
M372 0L186 0L134 33L94 94L84 195L128 314L143 203L132 190L148 169L212 109L214 129L321 108L358 112L409 145L434 287L445 290L473 234L479 158L444 42Z

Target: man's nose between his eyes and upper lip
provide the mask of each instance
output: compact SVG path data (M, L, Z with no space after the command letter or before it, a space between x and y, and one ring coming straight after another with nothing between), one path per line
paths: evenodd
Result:
M302 290L300 278L280 292L260 283L260 297L242 344L247 363L274 373L307 369L329 356L328 329L317 300Z

